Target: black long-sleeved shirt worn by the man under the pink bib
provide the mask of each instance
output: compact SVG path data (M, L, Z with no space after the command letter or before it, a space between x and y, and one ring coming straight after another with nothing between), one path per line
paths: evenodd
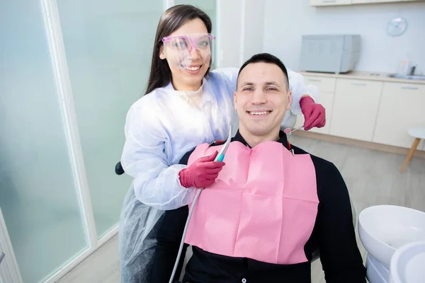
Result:
M239 141L249 146L239 132L232 141ZM302 149L290 145L283 132L280 132L278 142L282 143L286 149L293 151L293 154L307 154ZM215 145L219 144L212 144L211 146ZM192 151L183 156L180 163L187 164L191 153ZM183 282L310 283L310 261L314 253L319 250L327 283L365 283L365 267L356 243L351 203L346 184L333 163L317 156L310 156L316 171L319 205L314 229L304 247L308 262L295 265L275 265L250 258L217 255L193 247L193 257L186 266ZM166 213L162 225L168 229L167 233L169 233L171 226L178 225L179 229L173 231L174 233L179 231L181 238L186 219L179 221L176 219L176 215L180 214L180 219L187 218L187 209L187 207L183 207L176 209L175 212ZM167 235L167 237L170 236ZM161 241L159 239L159 246L161 246ZM175 258L171 260L175 260Z

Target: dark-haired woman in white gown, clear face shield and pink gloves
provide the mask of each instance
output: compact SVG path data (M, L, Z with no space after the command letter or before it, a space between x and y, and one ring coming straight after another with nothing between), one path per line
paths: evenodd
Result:
M190 5L173 6L159 20L147 91L131 106L125 122L121 164L134 180L120 216L123 283L149 282L163 211L191 203L192 189L213 183L225 165L213 161L214 154L191 166L179 165L183 154L198 144L227 139L229 125L238 125L233 93L239 69L210 71L211 30L208 15ZM314 103L318 91L293 71L289 79L294 102L283 127L293 127L300 112L306 130L323 127L324 108Z

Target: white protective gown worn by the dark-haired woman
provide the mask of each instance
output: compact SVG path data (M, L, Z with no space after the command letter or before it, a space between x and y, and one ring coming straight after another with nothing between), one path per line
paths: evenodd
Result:
M198 91L175 91L171 83L135 102L125 122L121 164L134 178L120 219L120 259L123 283L149 282L147 274L156 244L154 226L164 210L192 202L196 190L181 186L179 161L198 144L227 139L229 125L239 127L233 106L239 69L210 71ZM283 128L295 125L301 114L300 98L309 94L318 102L319 91L305 86L304 77L288 69L291 110Z

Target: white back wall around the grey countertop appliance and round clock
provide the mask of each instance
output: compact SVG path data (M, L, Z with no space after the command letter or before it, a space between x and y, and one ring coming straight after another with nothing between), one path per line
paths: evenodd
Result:
M399 61L416 62L425 72L425 2L310 7L308 0L265 0L263 51L298 70L301 36L351 33L361 35L358 71L395 72ZM390 37L390 19L407 19L408 28Z

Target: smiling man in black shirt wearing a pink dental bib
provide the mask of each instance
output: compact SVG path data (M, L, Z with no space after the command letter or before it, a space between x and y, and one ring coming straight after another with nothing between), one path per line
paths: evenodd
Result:
M241 67L234 93L239 132L193 211L185 238L193 256L183 282L311 282L317 249L326 282L366 282L341 174L280 131L290 109L288 86L285 66L271 54L257 54ZM221 146L200 144L181 163ZM164 215L154 270L162 265L170 276L187 215L188 207ZM166 258L162 241L173 237Z

